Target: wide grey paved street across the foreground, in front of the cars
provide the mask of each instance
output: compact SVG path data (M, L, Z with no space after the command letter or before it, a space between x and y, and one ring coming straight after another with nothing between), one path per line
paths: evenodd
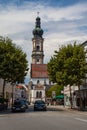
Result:
M87 130L87 112L48 107L46 112L0 113L1 130Z

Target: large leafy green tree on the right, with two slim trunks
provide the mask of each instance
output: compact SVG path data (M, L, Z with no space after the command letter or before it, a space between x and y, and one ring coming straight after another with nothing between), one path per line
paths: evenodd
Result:
M51 63L54 66L51 66ZM55 67L55 68L53 68ZM48 63L48 73L51 80L64 86L70 85L70 101L72 108L71 86L77 84L80 95L80 108L82 108L80 85L86 74L86 60L84 48L81 45L69 44L62 46ZM55 75L52 76L52 73ZM54 78L55 77L55 78Z

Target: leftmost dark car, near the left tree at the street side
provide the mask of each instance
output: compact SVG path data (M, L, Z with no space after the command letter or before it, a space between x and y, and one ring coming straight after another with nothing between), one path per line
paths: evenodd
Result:
M16 111L25 112L26 110L25 103L22 100L16 100L14 101L11 110L12 112L16 112Z

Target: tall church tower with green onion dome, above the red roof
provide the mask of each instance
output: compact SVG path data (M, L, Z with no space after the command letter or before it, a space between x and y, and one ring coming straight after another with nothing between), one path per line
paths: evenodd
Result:
M32 64L43 64L44 62L44 52L43 52L43 42L44 39L42 37L43 30L41 29L41 21L40 17L37 16L35 29L33 30L33 50L32 50Z

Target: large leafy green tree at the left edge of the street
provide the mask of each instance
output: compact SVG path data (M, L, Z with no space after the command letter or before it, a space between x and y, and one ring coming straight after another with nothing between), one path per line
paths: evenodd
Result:
M12 43L9 38L0 37L0 78L3 83L3 98L5 82L23 82L28 71L26 54Z

